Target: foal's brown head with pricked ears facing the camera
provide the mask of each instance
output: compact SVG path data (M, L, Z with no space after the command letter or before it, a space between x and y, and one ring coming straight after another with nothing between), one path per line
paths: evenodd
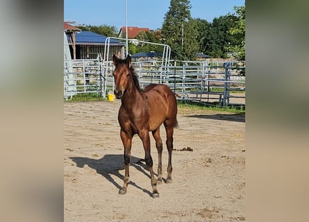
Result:
M131 80L131 57L127 56L126 59L122 60L117 56L112 56L112 62L115 65L115 69L112 72L115 80L115 96L117 99L122 99L124 92L129 87Z

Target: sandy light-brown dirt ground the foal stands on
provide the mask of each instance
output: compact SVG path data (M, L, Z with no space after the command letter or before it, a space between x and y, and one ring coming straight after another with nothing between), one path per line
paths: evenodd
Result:
M135 135L128 191L117 112L120 101L64 103L65 221L244 221L244 115L178 109L173 182L151 197L144 148ZM162 126L161 126L162 127ZM165 145L165 130L161 128ZM158 155L151 137L153 170ZM167 176L167 148L162 155Z

